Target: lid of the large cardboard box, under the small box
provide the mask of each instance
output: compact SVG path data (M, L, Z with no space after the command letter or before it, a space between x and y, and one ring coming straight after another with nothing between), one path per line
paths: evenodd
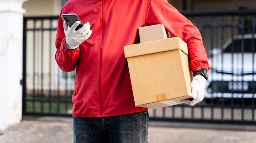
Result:
M124 46L124 55L128 58L175 49L181 49L185 54L188 54L187 44L180 39L180 37L173 37L157 41L126 45Z

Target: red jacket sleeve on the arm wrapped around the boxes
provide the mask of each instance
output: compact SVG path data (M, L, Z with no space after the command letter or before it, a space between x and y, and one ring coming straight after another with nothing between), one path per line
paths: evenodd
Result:
M151 0L146 13L145 25L164 24L173 37L180 37L188 44L190 68L210 69L202 36L197 27L175 9L167 0Z

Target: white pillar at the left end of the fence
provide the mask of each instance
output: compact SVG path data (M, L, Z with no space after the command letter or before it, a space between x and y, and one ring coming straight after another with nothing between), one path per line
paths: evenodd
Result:
M22 4L0 0L0 130L22 118Z

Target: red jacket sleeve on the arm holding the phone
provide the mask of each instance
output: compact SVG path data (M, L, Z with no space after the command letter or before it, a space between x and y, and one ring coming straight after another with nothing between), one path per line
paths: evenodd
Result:
M61 15L58 19L56 32L55 46L57 48L55 60L63 72L71 72L76 68L76 63L79 58L79 47L75 50L70 50L65 44L65 34L63 29L63 19Z

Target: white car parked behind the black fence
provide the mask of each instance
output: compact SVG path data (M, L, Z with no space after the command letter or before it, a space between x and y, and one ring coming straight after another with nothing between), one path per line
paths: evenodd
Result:
M211 54L205 98L256 98L256 34L237 35Z

